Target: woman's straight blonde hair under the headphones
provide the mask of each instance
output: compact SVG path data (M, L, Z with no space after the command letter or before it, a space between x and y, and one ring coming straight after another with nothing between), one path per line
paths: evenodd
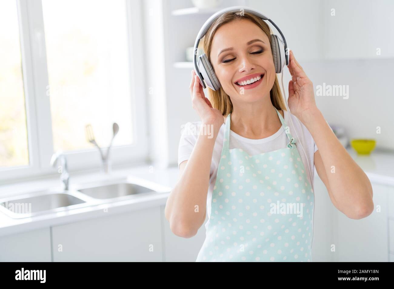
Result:
M228 12L221 15L216 21L211 25L211 27L206 32L204 36L204 52L207 55L210 61L210 50L212 46L212 39L215 35L216 30L233 20L241 20L241 19L249 19L253 23L255 23L258 27L261 28L264 33L268 36L269 44L271 47L271 30L266 22L264 22L261 18L257 17L254 14L249 12L243 13L240 15L240 12ZM211 62L212 63L212 62ZM277 75L275 75L275 82L271 91L269 92L272 105L278 110L286 110L284 100L282 98L281 88L279 87L279 81ZM232 112L232 103L230 97L223 90L223 87L220 87L219 90L212 90L208 87L208 99L212 103L212 107L221 111L222 115L227 115Z

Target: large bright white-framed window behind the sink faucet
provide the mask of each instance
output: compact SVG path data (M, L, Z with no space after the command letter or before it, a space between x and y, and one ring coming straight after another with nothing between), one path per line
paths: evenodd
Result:
M0 3L0 181L50 175L56 151L70 171L143 162L139 1L7 0ZM137 14L137 16L136 16ZM138 84L138 85L136 85ZM138 108L138 109L136 109ZM138 125L137 125L138 124Z

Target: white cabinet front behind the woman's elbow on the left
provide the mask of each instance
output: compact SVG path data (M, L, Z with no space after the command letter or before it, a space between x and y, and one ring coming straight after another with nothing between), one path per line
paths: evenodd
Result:
M164 228L164 260L166 262L195 262L198 252L203 246L205 239L205 223L208 217L205 217L204 224L199 228L197 234L191 238L182 238L175 235L170 228L170 224L165 218L164 208L162 206L162 226Z

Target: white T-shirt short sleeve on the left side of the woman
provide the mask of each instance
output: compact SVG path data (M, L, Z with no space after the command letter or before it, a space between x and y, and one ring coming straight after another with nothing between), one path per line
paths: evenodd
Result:
M181 136L178 146L178 169L181 162L190 158L194 145L197 142L197 123L188 122L181 126Z

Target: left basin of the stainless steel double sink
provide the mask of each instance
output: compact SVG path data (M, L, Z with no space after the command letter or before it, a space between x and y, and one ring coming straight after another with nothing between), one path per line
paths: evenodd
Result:
M77 197L78 193L76 191L47 190L8 197L0 199L0 211L19 219L89 205L85 200Z

